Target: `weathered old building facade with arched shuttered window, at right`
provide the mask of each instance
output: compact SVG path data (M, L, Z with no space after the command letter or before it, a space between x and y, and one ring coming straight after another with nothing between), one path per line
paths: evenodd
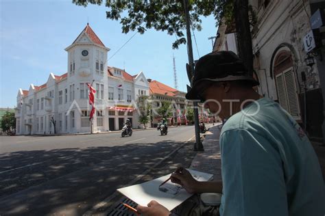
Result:
M249 4L256 15L251 34L258 93L277 101L306 126L309 137L322 137L324 66L321 69L320 65L324 61L307 66L311 52L306 51L304 38L311 31L313 12L324 9L324 1L250 0ZM237 53L233 27L221 25L218 33L214 50Z

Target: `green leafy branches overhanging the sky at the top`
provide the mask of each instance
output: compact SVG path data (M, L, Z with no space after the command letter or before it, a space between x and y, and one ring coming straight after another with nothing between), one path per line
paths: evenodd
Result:
M189 12L191 26L201 31L202 20L200 16L213 14L216 26L219 25L221 16L232 14L233 0L189 0ZM101 5L105 3L108 7L106 17L111 20L120 21L122 32L138 31L145 33L147 29L167 31L171 36L176 36L173 49L178 49L180 44L186 44L183 31L186 30L184 19L183 0L178 1L112 1L112 0L73 0L75 5L86 7L88 3ZM127 12L127 13L125 13ZM124 16L127 14L127 16Z

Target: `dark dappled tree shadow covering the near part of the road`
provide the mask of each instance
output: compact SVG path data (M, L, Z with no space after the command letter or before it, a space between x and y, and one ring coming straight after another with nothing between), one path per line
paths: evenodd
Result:
M182 144L165 140L155 144L0 154L0 215L62 211L81 215ZM186 151L193 154L193 143L186 146ZM168 160L167 167L182 159Z

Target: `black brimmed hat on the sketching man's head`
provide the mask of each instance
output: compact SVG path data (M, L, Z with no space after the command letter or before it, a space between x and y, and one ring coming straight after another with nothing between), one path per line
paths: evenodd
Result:
M202 56L195 65L194 76L187 91L186 99L200 100L199 85L203 81L245 81L252 87L259 85L258 81L248 75L248 70L241 59L232 51L219 51Z

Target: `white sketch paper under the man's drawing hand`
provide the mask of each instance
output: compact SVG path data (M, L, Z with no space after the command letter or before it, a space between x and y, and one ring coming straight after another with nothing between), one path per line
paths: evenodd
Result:
M213 176L212 174L198 172L196 170L189 170L189 172L199 181L210 180ZM168 192L160 191L161 189L159 189L159 185L169 178L170 175L171 174L168 174L154 180L149 180L139 185L123 187L117 189L117 191L141 206L147 206L151 200L156 200L171 211L171 209L184 202L192 194L187 193L180 185L171 183L170 180L162 186L163 188L167 188Z

